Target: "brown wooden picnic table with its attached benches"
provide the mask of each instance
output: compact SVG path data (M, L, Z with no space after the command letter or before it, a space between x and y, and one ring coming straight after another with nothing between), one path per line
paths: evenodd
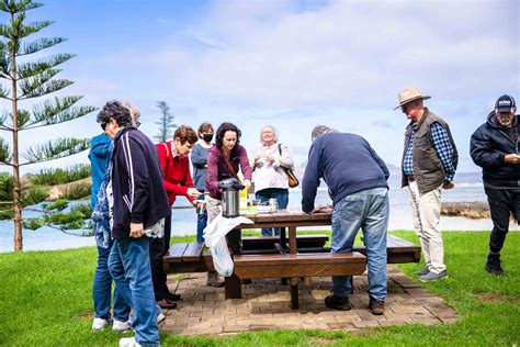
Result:
M241 279L287 278L291 284L291 306L298 307L299 278L325 276L358 276L366 266L364 246L352 253L331 254L324 247L327 235L296 234L298 226L330 225L330 213L279 211L249 216L253 224L237 226L227 235L234 257L235 272L225 278L226 299L241 298ZM241 237L242 228L281 227L280 236ZM289 228L289 238L285 228ZM387 262L418 262L420 247L396 236L387 238ZM163 258L166 272L206 272L213 270L213 259L203 253L202 243L174 244Z

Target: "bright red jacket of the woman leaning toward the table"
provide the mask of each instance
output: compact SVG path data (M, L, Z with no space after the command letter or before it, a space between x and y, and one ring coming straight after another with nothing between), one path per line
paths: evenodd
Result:
M194 199L188 195L188 188L193 188L190 172L190 160L188 156L173 157L171 152L172 142L157 144L160 167L162 169L162 183L165 184L170 205L176 202L177 195L184 195L191 203Z

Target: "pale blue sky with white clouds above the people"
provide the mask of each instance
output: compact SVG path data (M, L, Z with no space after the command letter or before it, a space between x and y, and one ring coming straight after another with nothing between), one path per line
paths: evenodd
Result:
M520 1L42 2L27 20L56 22L38 36L68 38L42 56L77 55L58 75L75 81L61 94L98 108L128 100L150 137L160 100L177 124L236 123L250 154L269 124L304 164L313 127L326 124L365 137L400 166L408 121L393 109L402 89L416 87L450 124L459 172L471 172L479 170L472 133L501 94L520 101ZM92 137L101 132L95 115L23 132L21 147ZM74 163L88 163L87 153L26 170Z

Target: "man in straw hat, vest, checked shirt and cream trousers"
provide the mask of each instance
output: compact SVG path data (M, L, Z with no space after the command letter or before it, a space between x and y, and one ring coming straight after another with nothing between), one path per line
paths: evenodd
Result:
M410 123L406 127L402 187L410 191L414 228L422 247L426 268L416 272L423 282L446 277L444 246L439 230L441 190L452 189L459 155L448 123L425 108L417 88L399 92L399 105Z

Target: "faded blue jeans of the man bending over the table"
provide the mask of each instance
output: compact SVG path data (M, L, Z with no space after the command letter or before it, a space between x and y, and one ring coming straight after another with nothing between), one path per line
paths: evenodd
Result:
M352 251L358 231L363 232L369 268L369 293L375 300L386 298L386 230L388 190L373 188L344 197L332 212L332 253ZM352 293L350 276L332 277L334 293Z

